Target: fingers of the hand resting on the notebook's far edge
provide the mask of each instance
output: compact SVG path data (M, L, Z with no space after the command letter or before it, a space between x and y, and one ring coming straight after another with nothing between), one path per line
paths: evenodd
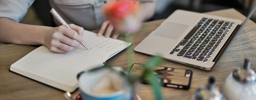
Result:
M98 36L103 35L103 33L106 31L105 37L109 37L113 30L114 30L113 24L109 20L107 20L102 23L101 28L98 32ZM116 39L119 36L119 34L120 33L118 31L115 31L114 34L112 35L112 38Z

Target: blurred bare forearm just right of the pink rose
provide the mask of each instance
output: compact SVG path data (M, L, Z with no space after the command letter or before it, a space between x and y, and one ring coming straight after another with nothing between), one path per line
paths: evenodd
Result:
M146 20L150 19L154 15L155 9L156 9L155 1L140 3L140 8L139 8L139 12L138 12L140 20L146 21Z

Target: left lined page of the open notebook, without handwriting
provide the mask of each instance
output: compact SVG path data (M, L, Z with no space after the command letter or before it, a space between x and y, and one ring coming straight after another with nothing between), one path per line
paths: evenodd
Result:
M50 84L51 81L55 81L66 86L75 87L77 85L76 76L79 72L92 69L102 63L103 61L88 56L72 52L67 54L54 53L48 47L40 46L12 64L10 70L22 70L20 72L24 73L16 73L24 76L26 76L26 73L39 76L40 79L35 79L33 76L27 77L51 86L56 85ZM59 88L58 85L54 87Z

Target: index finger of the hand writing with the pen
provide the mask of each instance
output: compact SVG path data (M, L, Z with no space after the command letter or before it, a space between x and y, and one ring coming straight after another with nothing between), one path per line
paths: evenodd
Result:
M76 31L72 30L72 29L68 29L68 28L66 28L65 26L62 25L62 26L58 27L57 30L62 32L62 34L66 35L66 36L68 36L72 39L77 40L79 43L83 42L83 39L81 38L81 36L79 36L79 34Z

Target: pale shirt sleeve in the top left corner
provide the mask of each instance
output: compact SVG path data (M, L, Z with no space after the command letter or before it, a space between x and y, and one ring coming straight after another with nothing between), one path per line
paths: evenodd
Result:
M19 22L34 0L0 0L0 17Z

